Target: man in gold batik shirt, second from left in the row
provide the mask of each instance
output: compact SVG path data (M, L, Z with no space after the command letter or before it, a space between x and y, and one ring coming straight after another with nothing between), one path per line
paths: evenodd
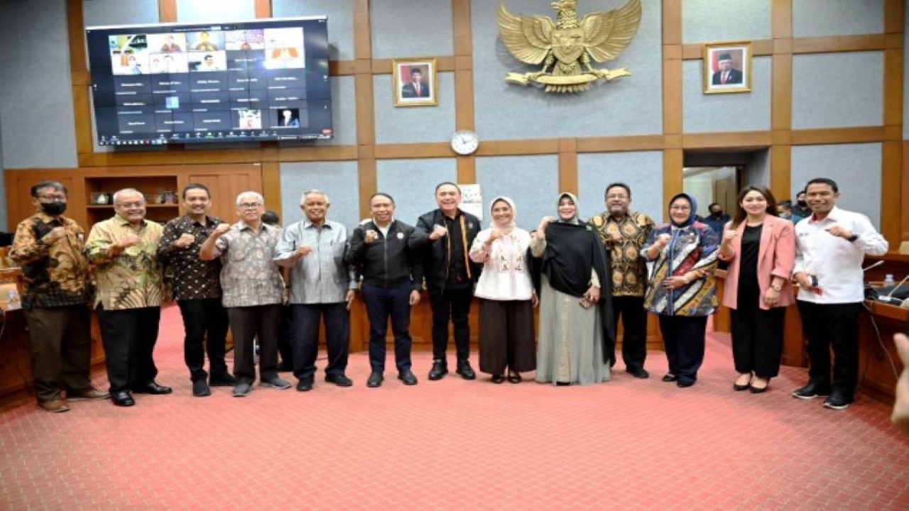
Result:
M88 234L85 254L95 266L95 308L105 346L107 379L116 406L135 394L170 394L155 383L153 352L164 298L157 248L164 227L145 220L145 196L134 188L114 194L113 218Z

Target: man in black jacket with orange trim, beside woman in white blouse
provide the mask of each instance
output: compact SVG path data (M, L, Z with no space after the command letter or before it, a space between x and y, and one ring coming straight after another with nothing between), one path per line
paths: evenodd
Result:
M414 230L414 246L423 248L423 266L429 303L433 308L433 368L430 380L448 373L448 322L454 324L457 349L457 374L464 379L476 377L470 366L470 300L481 266L467 254L480 232L476 216L461 211L461 189L451 182L435 187L438 209L420 216Z

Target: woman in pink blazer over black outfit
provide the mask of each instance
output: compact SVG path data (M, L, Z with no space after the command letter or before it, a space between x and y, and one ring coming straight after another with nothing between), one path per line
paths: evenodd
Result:
M761 186L745 186L719 251L729 263L723 305L732 309L736 391L767 390L780 370L786 306L795 259L794 225L776 216L776 199Z

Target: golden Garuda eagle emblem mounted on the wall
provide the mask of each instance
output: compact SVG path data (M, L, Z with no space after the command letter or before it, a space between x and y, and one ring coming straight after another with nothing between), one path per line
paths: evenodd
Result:
M641 1L605 13L585 15L578 21L577 0L559 0L552 18L540 15L513 15L499 5L499 35L514 58L527 64L543 64L536 73L509 73L506 82L545 85L546 92L581 92L598 78L606 81L631 73L621 69L596 69L596 62L613 60L631 43L641 24ZM550 70L551 68L551 70ZM586 68L586 70L584 70ZM549 71L547 71L549 70Z

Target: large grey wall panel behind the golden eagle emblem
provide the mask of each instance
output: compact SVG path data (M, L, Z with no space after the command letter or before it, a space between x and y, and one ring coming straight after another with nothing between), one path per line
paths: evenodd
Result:
M513 14L547 15L554 10L545 0L510 0ZM596 10L624 5L603 0ZM474 0L474 109L481 138L514 139L554 136L644 135L663 131L662 47L659 0L644 0L637 35L614 61L597 67L627 67L631 76L597 83L579 94L546 94L534 86L504 83L509 72L539 69L515 59L499 40L497 2ZM581 5L586 15L593 5Z

